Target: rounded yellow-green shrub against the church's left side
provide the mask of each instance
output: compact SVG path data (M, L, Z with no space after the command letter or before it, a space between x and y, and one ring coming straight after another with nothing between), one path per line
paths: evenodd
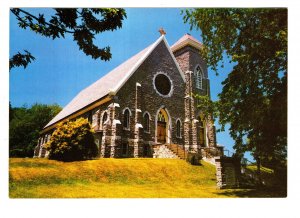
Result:
M90 159L98 154L93 129L84 118L60 123L46 144L49 159L78 161Z

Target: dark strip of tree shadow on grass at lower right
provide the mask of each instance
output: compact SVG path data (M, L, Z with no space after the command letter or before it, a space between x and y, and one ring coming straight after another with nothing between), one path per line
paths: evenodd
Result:
M274 189L222 189L217 195L239 198L286 198L286 190Z

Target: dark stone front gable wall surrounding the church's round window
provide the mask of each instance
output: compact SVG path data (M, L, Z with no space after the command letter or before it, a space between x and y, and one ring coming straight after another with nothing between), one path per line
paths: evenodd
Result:
M153 78L158 72L163 72L170 77L173 84L171 97L162 97L155 91ZM138 90L136 83L141 84ZM116 115L117 119L123 122L124 115L122 114L122 110L124 108L128 107L131 111L130 131L121 130L119 134L122 139L134 139L136 105L138 109L141 110L138 114L137 122L142 125L142 115L147 111L150 114L150 132L146 133L143 129L140 129L138 136L139 154L143 153L144 144L154 144L155 142L155 117L159 108L164 106L171 116L172 143L183 145L183 138L176 137L176 120L179 118L183 124L184 86L184 81L171 55L168 53L165 44L161 42L117 93L118 103L120 105L120 111ZM136 91L138 91L138 96L136 95ZM183 126L181 126L181 135L183 136ZM129 140L129 146L132 144L132 140Z

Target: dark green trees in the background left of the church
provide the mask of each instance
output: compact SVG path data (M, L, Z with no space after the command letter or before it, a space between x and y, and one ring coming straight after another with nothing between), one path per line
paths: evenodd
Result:
M55 104L34 104L30 108L9 104L10 157L33 157L39 131L60 111L61 107Z

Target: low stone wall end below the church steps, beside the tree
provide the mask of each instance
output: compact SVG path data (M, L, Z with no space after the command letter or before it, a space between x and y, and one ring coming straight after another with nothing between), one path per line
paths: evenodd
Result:
M238 188L241 175L240 159L215 157L215 163L218 188Z

